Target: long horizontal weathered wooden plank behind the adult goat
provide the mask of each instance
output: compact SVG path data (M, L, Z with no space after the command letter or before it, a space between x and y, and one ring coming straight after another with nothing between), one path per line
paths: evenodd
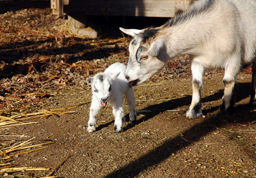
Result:
M172 17L186 10L192 0L73 0L64 5L64 13L81 15L118 15Z

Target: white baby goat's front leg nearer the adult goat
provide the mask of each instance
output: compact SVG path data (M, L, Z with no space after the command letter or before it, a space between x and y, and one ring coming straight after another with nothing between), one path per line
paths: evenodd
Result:
M123 98L122 98L123 101ZM115 116L115 132L122 132L123 131L123 107L122 102L116 102L115 105L113 105L113 115Z

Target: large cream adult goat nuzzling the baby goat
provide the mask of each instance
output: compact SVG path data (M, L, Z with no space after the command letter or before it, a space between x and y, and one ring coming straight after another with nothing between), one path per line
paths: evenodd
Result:
M256 104L256 1L200 0L160 27L123 29L129 44L126 78L130 86L149 79L169 59L189 54L193 78L192 103L186 116L199 117L204 68L223 68L222 114L233 114L233 89L241 66L252 63L250 101Z

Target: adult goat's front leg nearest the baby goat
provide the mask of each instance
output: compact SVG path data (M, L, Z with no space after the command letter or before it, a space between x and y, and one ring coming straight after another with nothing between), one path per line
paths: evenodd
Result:
M201 115L203 115L201 112L201 89L203 88L204 66L192 61L191 70L193 75L193 95L192 102L186 116L188 118L199 118Z

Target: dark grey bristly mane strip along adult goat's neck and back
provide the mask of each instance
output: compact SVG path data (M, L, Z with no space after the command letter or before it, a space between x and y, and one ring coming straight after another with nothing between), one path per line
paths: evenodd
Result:
M197 15L201 12L204 12L205 10L210 9L213 6L214 2L215 2L215 0L208 0L200 8L193 7L191 9L189 9L188 11L179 14L175 18L168 20L167 23L164 25L164 27L170 27L173 25L177 25L183 21L186 21L186 20L192 18L194 15Z

